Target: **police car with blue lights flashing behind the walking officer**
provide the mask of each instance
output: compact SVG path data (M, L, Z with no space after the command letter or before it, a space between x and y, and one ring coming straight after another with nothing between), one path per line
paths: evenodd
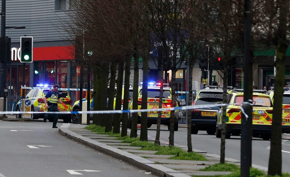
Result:
M37 87L32 87L27 94L25 95L24 99L25 104L29 102L31 104L31 111L32 112L45 112L47 111L47 107L44 104L44 97L48 91L51 90L53 85L43 85L37 84ZM72 100L65 90L59 90L60 93L60 100L62 103L58 103L58 110L61 112L69 112L72 108ZM18 101L16 105L16 111L22 111L22 99ZM38 119L43 118L45 114L31 114L31 119ZM21 119L21 114L16 114L16 118ZM70 114L59 114L59 118L63 119L64 123L71 122ZM53 120L49 120L53 121Z

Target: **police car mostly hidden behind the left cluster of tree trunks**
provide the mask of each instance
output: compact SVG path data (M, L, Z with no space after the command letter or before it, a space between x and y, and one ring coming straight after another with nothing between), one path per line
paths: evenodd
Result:
M109 88L108 88L108 91L109 91ZM115 110L115 104L116 104L116 92L117 92L117 87L115 87L115 98L114 98L114 110ZM129 101L130 99L132 98L132 95L133 95L133 87L130 86L129 88ZM86 98L83 98L82 101L86 101ZM123 101L124 101L124 87L122 89L122 100L121 100L121 110L123 110ZM107 105L108 105L108 100L107 100ZM94 99L92 98L90 100L90 111L92 111L94 108ZM76 101L73 106L72 106L72 111L79 111L79 100ZM90 119L92 119L93 117L93 114L90 114ZM122 116L121 116L121 121L122 121ZM77 124L79 122L79 114L78 113L74 113L72 114L72 122L74 124Z

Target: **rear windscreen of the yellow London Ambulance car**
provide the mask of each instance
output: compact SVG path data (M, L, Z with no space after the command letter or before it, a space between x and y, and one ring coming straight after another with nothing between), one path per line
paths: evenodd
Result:
M234 100L234 105L241 106L243 104L244 97L243 96L236 96ZM253 96L254 106L261 106L261 107L272 107L271 99L268 97L262 96Z

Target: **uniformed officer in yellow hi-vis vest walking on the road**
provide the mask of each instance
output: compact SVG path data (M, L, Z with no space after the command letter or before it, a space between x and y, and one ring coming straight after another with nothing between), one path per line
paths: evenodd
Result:
M58 88L59 88L58 85L53 85L53 89L47 92L47 94L44 97L44 103L45 103L45 106L47 107L48 112L58 112L57 102L59 103L62 102L60 101L60 92L58 92ZM46 122L48 117L53 118L52 127L57 128L56 123L58 120L58 114L45 115L43 118L43 122Z

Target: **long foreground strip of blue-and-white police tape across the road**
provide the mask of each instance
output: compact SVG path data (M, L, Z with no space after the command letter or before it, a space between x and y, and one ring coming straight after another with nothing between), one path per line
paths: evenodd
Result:
M233 104L219 103L215 105L192 105L180 106L171 108L156 108L156 109L134 109L134 110L112 110L112 111L62 111L62 112L32 112L32 111L0 111L0 114L122 114L122 113L138 113L138 112L152 112L152 111L176 111L187 109L202 109L228 106Z

